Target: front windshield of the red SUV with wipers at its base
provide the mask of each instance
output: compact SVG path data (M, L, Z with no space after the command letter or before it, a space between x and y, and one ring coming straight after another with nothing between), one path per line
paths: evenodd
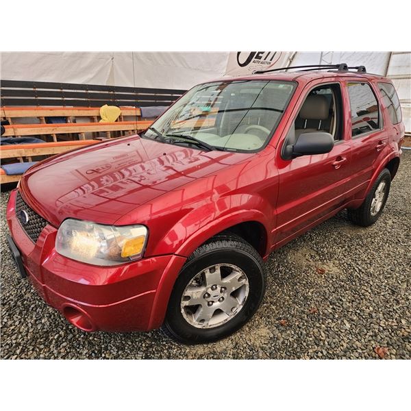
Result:
M260 80L200 84L144 136L199 149L205 142L213 149L258 151L275 131L294 88L293 82Z

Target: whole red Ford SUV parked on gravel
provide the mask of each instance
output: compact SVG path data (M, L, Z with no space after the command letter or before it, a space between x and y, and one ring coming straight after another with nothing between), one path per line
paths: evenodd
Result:
M29 169L7 210L21 274L86 331L207 343L239 329L263 260L343 208L375 223L399 166L389 79L293 69L199 84L139 136Z

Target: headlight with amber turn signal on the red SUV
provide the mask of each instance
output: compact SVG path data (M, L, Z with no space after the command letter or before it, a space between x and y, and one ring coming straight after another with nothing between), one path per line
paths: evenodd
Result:
M102 225L67 219L58 229L55 251L73 260L110 266L138 260L147 242L144 225Z

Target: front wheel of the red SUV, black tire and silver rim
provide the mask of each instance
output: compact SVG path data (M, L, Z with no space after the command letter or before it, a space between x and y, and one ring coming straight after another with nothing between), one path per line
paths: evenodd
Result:
M235 287L238 288L232 291ZM256 249L234 234L215 236L195 250L184 264L171 292L162 330L184 344L220 340L251 319L264 291L263 262ZM197 301L200 305L195 304ZM204 320L199 312L214 313Z

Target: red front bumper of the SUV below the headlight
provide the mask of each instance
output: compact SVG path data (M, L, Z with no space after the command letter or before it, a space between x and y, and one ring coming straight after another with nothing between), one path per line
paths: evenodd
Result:
M175 278L186 258L156 256L119 266L93 266L55 252L57 229L47 225L36 244L15 213L10 194L7 220L27 277L39 294L85 331L146 331L160 327Z

